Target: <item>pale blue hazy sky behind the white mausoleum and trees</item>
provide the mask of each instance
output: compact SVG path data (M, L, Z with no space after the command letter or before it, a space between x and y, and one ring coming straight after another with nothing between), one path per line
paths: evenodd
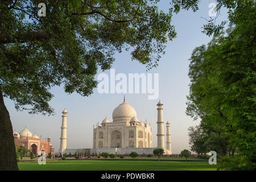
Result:
M160 1L158 6L165 12L170 8L170 1ZM166 53L159 61L157 68L146 71L145 65L137 61L131 61L130 52L116 53L113 67L115 74L125 73L159 73L159 97L156 100L148 100L148 94L125 94L126 102L137 111L139 121L151 124L152 145L157 146L157 110L156 104L159 99L163 102L164 122L170 122L171 147L173 154L179 154L181 150L190 150L188 143L188 127L199 124L199 121L185 114L189 92L189 57L194 48L207 44L211 37L203 34L203 24L209 19L208 7L214 1L204 0L200 3L200 10L180 11L174 14L172 24L175 26L177 38L168 41ZM223 11L223 10L222 10ZM203 18L201 18L203 17ZM218 20L226 18L222 13ZM98 72L98 74L100 74ZM105 71L110 76L110 71ZM98 75L97 74L97 75ZM96 77L97 77L96 75ZM13 129L18 133L27 126L32 134L36 133L42 140L51 137L51 143L55 152L60 147L61 111L64 108L68 111L67 118L67 147L68 148L92 148L93 146L93 125L107 117L112 121L112 112L123 102L123 93L100 94L97 88L89 97L82 97L77 93L67 94L63 86L56 86L51 89L55 95L49 104L55 109L55 115L47 116L42 114L28 114L27 111L16 111L14 102L5 98L5 105L10 113ZM166 133L166 125L164 125ZM165 138L166 140L166 138Z

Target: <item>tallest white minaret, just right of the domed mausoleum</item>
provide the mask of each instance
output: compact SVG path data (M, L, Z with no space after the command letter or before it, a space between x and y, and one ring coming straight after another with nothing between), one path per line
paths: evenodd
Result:
M159 100L158 104L158 148L163 148L164 149L164 122L163 122L163 103Z

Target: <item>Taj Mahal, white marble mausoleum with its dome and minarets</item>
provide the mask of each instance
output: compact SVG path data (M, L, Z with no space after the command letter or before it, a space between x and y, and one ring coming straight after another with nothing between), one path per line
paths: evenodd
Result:
M108 118L102 120L101 124L93 126L93 148L67 148L67 110L63 110L60 150L61 154L99 154L108 152L109 154L153 154L155 148L163 148L164 154L171 155L171 134L170 123L166 122L166 146L164 142L164 121L163 121L163 103L157 104L157 134L158 146L152 146L152 129L150 124L139 122L135 109L125 101L115 107L112 113L113 121Z

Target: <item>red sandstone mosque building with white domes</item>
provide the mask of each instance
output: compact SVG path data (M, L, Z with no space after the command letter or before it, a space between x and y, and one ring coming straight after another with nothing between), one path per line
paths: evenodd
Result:
M18 147L24 146L26 149L31 150L34 155L38 155L41 151L46 152L46 155L49 153L53 155L54 148L52 148L52 144L50 143L50 137L48 137L46 141L43 141L35 133L32 135L27 127L20 131L19 134L14 130L13 136L14 142L18 145Z

